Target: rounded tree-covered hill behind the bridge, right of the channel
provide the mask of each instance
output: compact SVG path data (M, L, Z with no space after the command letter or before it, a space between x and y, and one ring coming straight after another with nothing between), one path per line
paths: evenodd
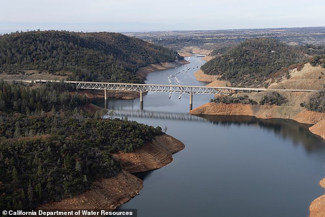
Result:
M221 75L222 80L230 81L233 86L259 86L270 78L289 76L290 66L308 61L305 51L276 39L249 39L205 63L201 69L208 75Z

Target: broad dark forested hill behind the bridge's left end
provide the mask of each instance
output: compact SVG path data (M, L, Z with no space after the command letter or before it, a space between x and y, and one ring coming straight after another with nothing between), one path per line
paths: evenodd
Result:
M0 36L0 73L68 72L69 79L143 83L138 68L182 59L177 52L119 33L33 31Z

